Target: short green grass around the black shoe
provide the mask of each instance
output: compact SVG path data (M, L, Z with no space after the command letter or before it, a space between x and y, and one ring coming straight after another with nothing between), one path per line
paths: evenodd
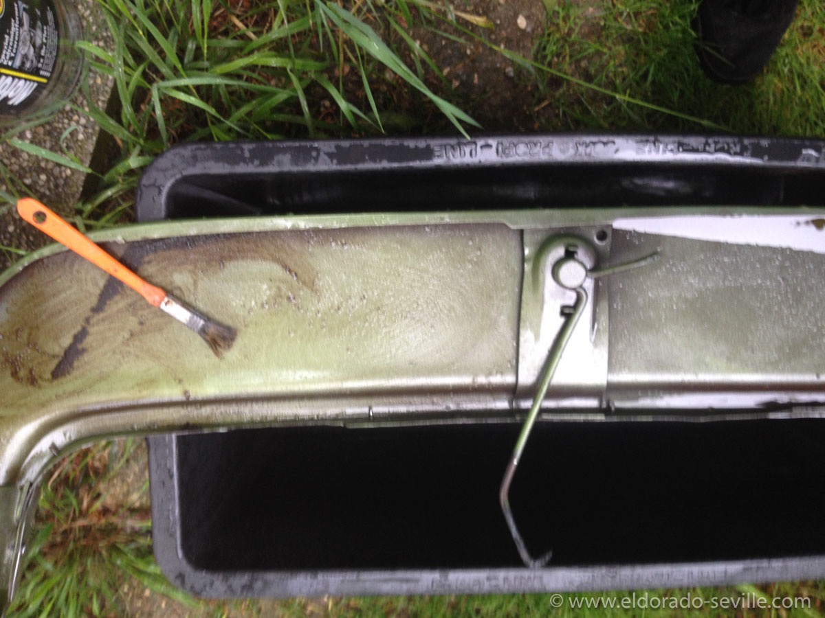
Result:
M684 115L732 133L825 136L823 2L799 3L766 72L743 86L701 73L692 49L696 2L623 0L596 16L587 7L601 3L548 2L551 26L536 61L646 104L556 78L545 95L559 128L701 129Z

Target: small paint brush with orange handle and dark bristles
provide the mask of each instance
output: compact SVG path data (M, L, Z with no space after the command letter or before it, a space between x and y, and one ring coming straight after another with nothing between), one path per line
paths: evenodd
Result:
M105 270L112 277L119 279L139 293L150 305L163 309L177 321L194 330L209 344L215 356L220 358L222 353L232 347L235 335L237 335L232 327L219 324L206 316L202 316L191 307L187 307L177 300L177 298L167 294L163 289L141 279L36 199L18 199L17 212L20 213L21 218L31 223L40 232L51 236L61 245L73 250L98 268Z

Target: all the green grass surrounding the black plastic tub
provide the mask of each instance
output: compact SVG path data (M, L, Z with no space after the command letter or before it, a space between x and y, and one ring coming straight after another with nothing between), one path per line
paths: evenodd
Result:
M465 105L437 63L408 35L409 27L417 26L448 43L481 42L496 50L493 25L464 2L451 7L422 0L100 3L115 48L83 43L82 50L98 71L113 77L120 110L109 116L92 109L89 115L115 140L118 156L99 175L97 191L77 205L81 227L128 221L140 173L175 143L479 131L472 103ZM545 7L547 26L536 37L532 58L497 49L516 65L516 80L531 86L533 98L526 105L535 110L538 130L825 137L825 5L820 0L800 2L797 20L766 73L742 87L720 86L700 73L690 27L695 2L545 0ZM5 142L60 165L82 167L64 152L26 145L24 129L8 130ZM0 199L12 202L26 191L5 168L0 167L0 175L10 187ZM47 479L11 615L120 616L127 606L125 585L171 597L199 616L260 613L254 603L195 601L166 583L151 555L148 511L106 503L107 483L130 449L128 442L97 445L62 461ZM744 592L808 595L813 609L800 615L821 615L825 602L825 583L656 594L681 599ZM551 595L493 595L295 600L276 611L286 616L568 616L577 613L568 609L569 598L596 596L564 595L561 609L552 606ZM638 611L596 615L636 616Z

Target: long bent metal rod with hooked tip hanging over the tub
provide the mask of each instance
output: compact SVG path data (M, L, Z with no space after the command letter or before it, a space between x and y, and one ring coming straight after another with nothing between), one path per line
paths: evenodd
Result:
M576 293L573 312L568 316L568 319L564 321L561 330L559 330L559 334L556 335L553 345L550 346L549 352L547 353L547 363L544 365L544 372L542 373L539 386L535 391L535 396L533 396L533 404L530 405L530 412L527 413L527 419L524 425L521 426L521 433L519 433L518 439L516 440L516 447L513 448L510 462L507 464L507 470L504 471L502 485L498 489L498 502L502 505L502 513L504 513L504 519L507 520L507 527L510 528L510 534L513 537L513 542L516 543L516 549L519 555L521 555L521 559L524 561L525 566L530 569L539 569L547 564L550 558L553 557L553 550L549 550L539 558L534 559L530 556L524 539L521 538L521 534L516 526L516 520L513 519L509 499L510 485L513 476L516 474L516 466L518 466L518 462L521 459L521 453L524 452L527 438L530 438L530 432L535 424L535 419L539 416L541 402L544 401L544 396L547 395L547 389L553 380L556 368L559 367L559 361L570 340L570 335L573 335L573 329L576 327L578 319L582 316L585 305L587 305L587 292L585 292L583 288L576 288L573 292Z

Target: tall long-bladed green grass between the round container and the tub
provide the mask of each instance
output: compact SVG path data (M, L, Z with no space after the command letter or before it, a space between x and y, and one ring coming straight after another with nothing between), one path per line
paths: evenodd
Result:
M437 73L433 63L425 58L408 68L384 43L373 26L389 28L393 12L379 23L384 12L375 7L353 8L354 14L327 0L102 0L101 6L114 50L88 42L79 47L93 68L115 82L119 115L99 108L89 115L115 139L120 157L101 174L97 194L78 205L90 227L100 225L113 204L128 208L144 167L174 143L357 137L402 124L412 128L417 121L399 114L393 99L402 91L410 98L406 88L454 131L466 135L478 128L424 82L425 71ZM399 16L409 9L399 4L396 11ZM398 79L392 93L386 73ZM86 99L93 101L89 93ZM4 141L88 171L64 153L21 140L26 128L8 129Z

